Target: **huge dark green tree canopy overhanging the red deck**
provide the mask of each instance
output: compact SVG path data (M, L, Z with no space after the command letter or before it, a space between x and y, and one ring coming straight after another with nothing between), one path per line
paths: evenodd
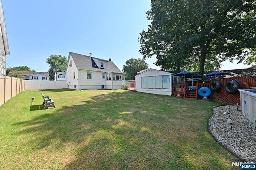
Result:
M226 59L255 59L253 0L152 0L151 24L140 33L140 53L156 55L162 70L214 70Z

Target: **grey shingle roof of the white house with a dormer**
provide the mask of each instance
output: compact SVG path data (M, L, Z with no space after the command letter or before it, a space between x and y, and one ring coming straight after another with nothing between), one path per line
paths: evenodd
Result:
M70 55L72 56L77 69L122 73L122 71L120 71L120 69L118 69L118 67L111 60L109 61L109 60L100 59L100 58L96 58L96 57L90 57L88 55L82 55L82 54L73 53L73 52L69 52L68 58L70 58ZM98 59L100 61L108 62L108 69L106 69L106 68L103 69L103 68L98 67L97 63L94 62L93 58Z

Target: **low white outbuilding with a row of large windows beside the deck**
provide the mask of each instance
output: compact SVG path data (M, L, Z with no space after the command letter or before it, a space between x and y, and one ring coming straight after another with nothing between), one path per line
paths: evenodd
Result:
M158 95L172 95L172 73L156 69L139 71L135 76L136 91Z

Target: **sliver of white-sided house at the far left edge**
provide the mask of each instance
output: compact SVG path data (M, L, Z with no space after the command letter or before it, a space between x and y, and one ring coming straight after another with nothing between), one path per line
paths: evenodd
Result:
M10 55L2 0L0 0L0 75L6 75L6 55Z

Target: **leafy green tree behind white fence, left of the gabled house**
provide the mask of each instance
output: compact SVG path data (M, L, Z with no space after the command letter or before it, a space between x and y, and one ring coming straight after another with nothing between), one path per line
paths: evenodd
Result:
M64 72L66 69L67 65L67 58L65 56L61 55L50 55L49 58L46 59L46 63L50 65L49 75L50 75L50 80L54 80L54 74L59 71L59 72Z

